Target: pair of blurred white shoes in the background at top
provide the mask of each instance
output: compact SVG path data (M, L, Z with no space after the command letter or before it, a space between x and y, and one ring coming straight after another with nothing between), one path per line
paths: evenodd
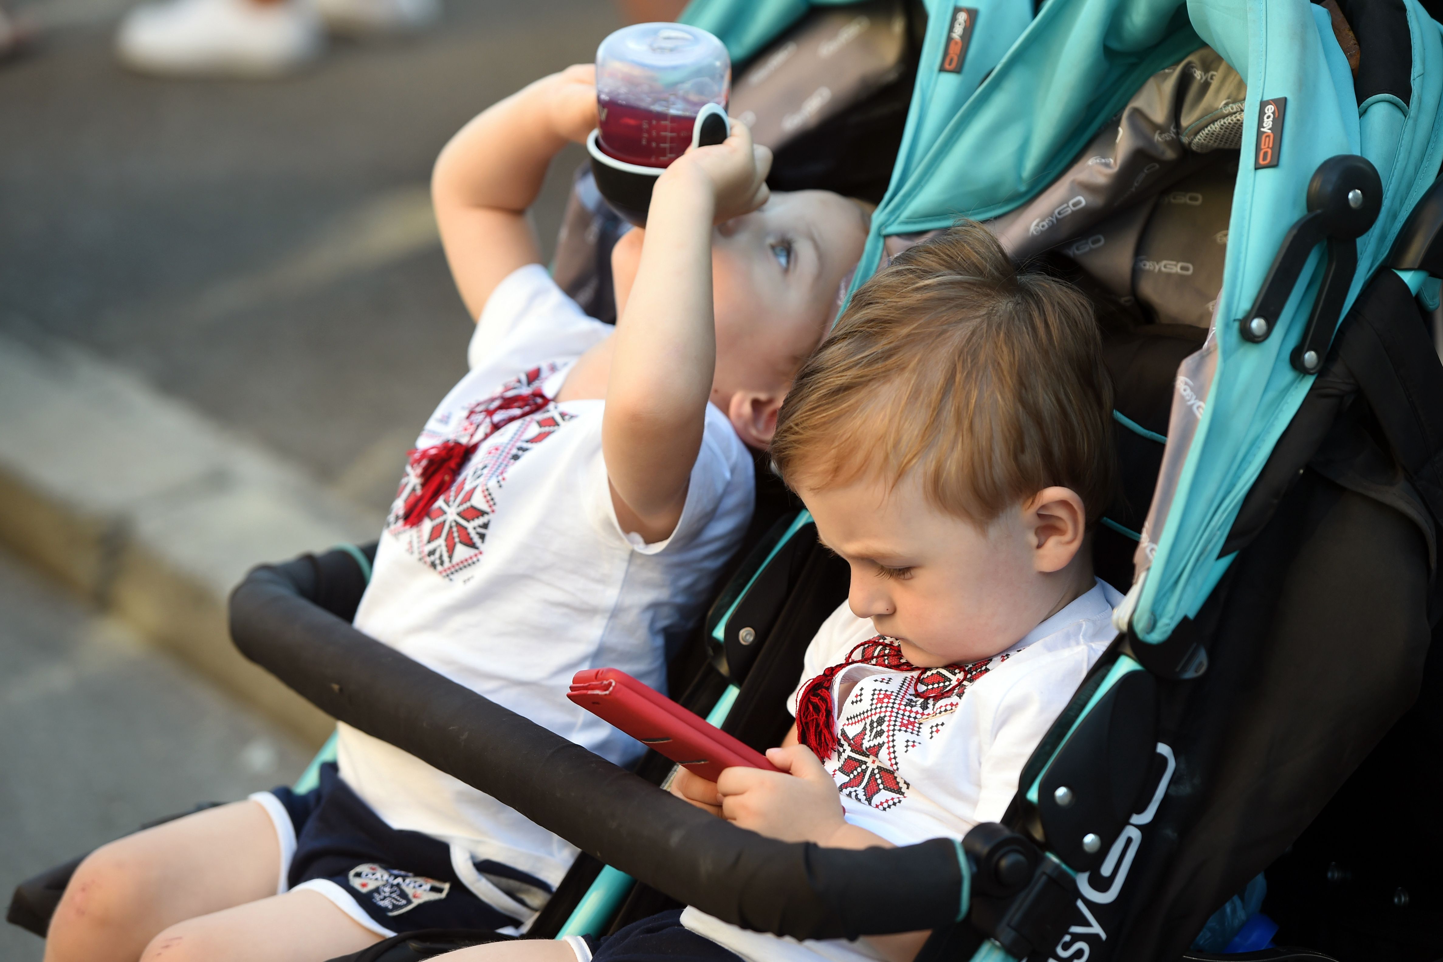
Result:
M439 16L440 0L159 0L126 14L115 55L162 76L281 76L320 56L328 30L408 33Z

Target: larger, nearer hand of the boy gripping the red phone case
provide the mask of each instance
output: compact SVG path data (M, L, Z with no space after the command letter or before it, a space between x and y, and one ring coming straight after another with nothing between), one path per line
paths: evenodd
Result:
M807 746L769 749L782 772L732 767L717 779L722 818L784 842L828 845L847 826L837 783Z

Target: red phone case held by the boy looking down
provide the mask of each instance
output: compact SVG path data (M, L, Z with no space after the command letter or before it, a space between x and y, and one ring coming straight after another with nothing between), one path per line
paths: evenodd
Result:
M616 668L576 672L566 697L711 782L734 764L776 772L760 751Z

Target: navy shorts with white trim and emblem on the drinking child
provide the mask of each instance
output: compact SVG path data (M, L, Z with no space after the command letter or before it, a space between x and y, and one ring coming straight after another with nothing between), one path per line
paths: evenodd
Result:
M418 929L515 935L551 894L551 887L534 875L478 861L481 878L515 903L515 916L482 901L456 875L450 845L382 822L341 780L335 764L320 767L320 786L312 792L297 795L277 787L251 798L266 808L281 839L284 878L278 891L319 891L381 936Z

